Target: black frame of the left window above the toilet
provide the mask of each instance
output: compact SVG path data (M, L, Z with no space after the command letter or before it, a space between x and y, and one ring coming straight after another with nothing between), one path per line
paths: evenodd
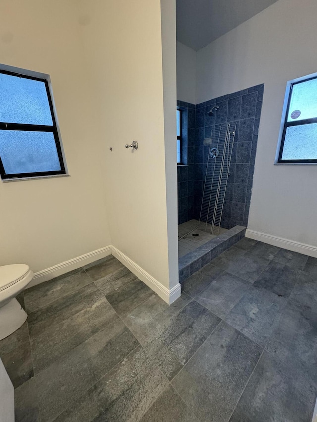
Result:
M27 71L28 72L28 71ZM59 128L56 122L55 117L55 110L53 107L53 100L52 100L52 93L50 91L49 87L49 75L47 75L47 78L41 78L37 76L30 76L26 73L20 73L20 72L14 72L10 70L0 69L0 73L4 73L7 75L16 76L19 78L25 78L25 79L33 79L35 81L44 82L46 94L48 97L48 102L50 106L50 112L52 117L52 123L53 125L33 125L33 124L24 124L24 123L9 123L9 122L0 122L0 130L10 130L10 131L29 131L29 132L52 132L54 135L55 145L56 145L56 151L58 154L59 164L60 164L60 170L53 170L53 171L45 171L45 172L29 172L29 173L10 173L7 174L5 172L1 156L0 156L0 175L2 180L11 180L11 179L29 179L29 178L39 178L39 177L45 177L45 176L58 176L58 175L66 175L67 169L65 166L65 158L63 155L62 150L62 143L60 139L59 134ZM30 72L28 72L30 73ZM34 72L35 73L35 72Z

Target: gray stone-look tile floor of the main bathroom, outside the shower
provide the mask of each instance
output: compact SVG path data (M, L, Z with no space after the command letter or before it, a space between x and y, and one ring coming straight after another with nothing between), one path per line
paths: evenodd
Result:
M311 422L317 259L242 239L164 303L114 257L32 287L16 421Z

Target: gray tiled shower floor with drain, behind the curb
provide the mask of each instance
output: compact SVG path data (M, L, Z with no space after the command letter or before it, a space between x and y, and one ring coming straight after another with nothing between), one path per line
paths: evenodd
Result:
M179 224L178 257L181 258L182 256L187 255L189 252L193 252L193 250L201 245L204 245L218 234L222 234L228 231L228 229L223 229L220 227L219 233L211 234L211 227L211 224L206 224L204 222L199 223L198 220L194 219L186 221L186 223ZM193 229L195 229L195 231L191 232ZM188 232L191 233L188 234ZM198 236L193 236L193 234L198 234Z

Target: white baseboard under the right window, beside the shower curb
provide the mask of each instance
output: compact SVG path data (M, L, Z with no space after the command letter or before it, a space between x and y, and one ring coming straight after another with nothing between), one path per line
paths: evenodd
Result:
M256 232L255 230L250 229L246 230L246 237L317 258L317 246L307 245L305 243L284 239L283 237L273 236L272 234Z

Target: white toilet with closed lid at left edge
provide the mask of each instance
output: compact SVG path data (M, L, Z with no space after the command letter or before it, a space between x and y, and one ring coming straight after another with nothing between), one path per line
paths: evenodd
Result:
M0 267L0 340L21 327L27 313L16 300L33 278L33 271L26 264Z

